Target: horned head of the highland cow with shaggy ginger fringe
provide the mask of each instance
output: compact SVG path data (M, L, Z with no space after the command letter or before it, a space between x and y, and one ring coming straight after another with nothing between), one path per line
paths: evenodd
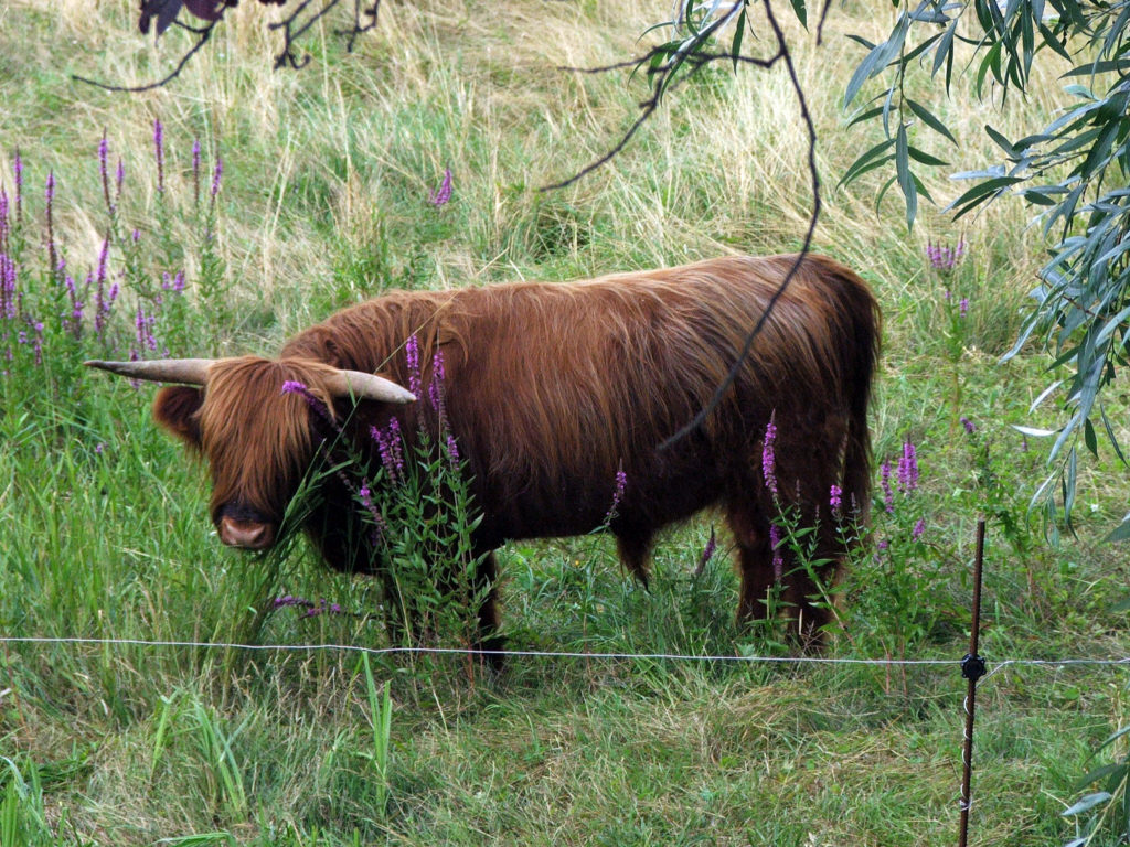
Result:
M318 430L332 429L319 418L332 417L336 401L416 399L383 377L311 359L244 356L86 364L134 379L179 383L157 393L154 418L207 457L211 518L220 541L251 550L275 543L287 504L314 460ZM303 387L284 391L288 383Z

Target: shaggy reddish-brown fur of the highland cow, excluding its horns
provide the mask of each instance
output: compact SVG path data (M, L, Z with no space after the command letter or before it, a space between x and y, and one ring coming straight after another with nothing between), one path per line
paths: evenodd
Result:
M782 503L801 521L827 513L833 484L845 504L868 504L879 316L864 283L829 259L805 259L721 404L698 431L667 451L658 445L710 401L793 261L725 257L562 285L393 292L302 332L277 360L218 361L203 392L164 388L155 416L208 456L214 519L235 508L277 523L314 452L308 409L281 396L281 383L298 379L325 396L330 365L408 385L403 346L416 334L425 365L444 352L451 429L484 513L480 551L507 539L591 531L624 470L627 488L610 530L625 565L645 578L659 529L721 506L739 549L738 614L759 617L774 582L768 530L776 506L762 478L770 417ZM425 385L428 378L425 370ZM407 408L363 401L347 430L372 455L370 425L395 413L406 434L417 420L434 428L426 407L423 399ZM348 492L325 494L307 530L327 560L374 570L372 556L347 543ZM817 556L838 561L844 551L832 522L819 525ZM486 561L493 577L494 561ZM827 618L809 602L814 586L805 576L786 580L802 634L815 630ZM480 617L485 628L497 621L493 596Z

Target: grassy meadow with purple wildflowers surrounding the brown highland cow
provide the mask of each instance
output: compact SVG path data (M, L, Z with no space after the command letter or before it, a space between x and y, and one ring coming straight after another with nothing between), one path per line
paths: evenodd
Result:
M650 591L600 534L504 548L505 632L530 655L498 676L454 630L451 654L349 649L389 646L379 585L301 541L224 549L153 387L81 367L269 355L390 288L796 250L811 192L781 69L707 69L610 164L540 190L609 150L645 95L627 71L563 68L637 54L669 6L383 3L353 52L331 16L308 66L276 71L270 12L247 1L140 94L73 75L144 85L184 33L155 45L133 3L0 7L0 636L24 639L0 643L0 845L956 842L979 516L991 666L1130 655L1128 556L1102 542L1124 466L1102 444L1088 456L1072 531L1028 513L1046 444L1014 426L1055 426L1054 396L1034 407L1055 374L1035 347L1000 357L1041 265L1032 211L922 209L907 233L890 194L876 208L878 175L835 190L877 140L838 107L861 50L844 33L878 36L889 9L837 6L822 46L790 28L820 138L815 248L858 269L885 321L870 543L824 656L946 664L660 657L791 655L779 622L734 627L709 514L663 536ZM991 161L984 123L1020 134L1060 88L1051 68L998 114L916 84L955 129L933 150L955 169ZM1124 394L1110 400L1124 422ZM575 655L533 655L553 652ZM1058 845L1097 823L1090 844L1121 842L1124 781L1062 813L1125 760L1124 740L1099 746L1128 721L1124 669L984 680L970 842Z

